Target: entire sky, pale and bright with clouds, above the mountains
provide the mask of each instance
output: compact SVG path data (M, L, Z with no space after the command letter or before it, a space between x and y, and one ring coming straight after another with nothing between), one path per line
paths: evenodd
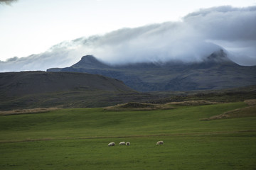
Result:
M256 64L256 0L0 0L0 72L200 61L219 48ZM186 49L186 50L184 50Z

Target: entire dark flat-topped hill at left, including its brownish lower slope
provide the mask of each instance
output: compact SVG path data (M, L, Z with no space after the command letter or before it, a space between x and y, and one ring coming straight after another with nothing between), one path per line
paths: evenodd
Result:
M76 72L0 73L0 110L99 107L138 98L122 81ZM146 98L146 95L144 95ZM144 98L142 95L142 98Z

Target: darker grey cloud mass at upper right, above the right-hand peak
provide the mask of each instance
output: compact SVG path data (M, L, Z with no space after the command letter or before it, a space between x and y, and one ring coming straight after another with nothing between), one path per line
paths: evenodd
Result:
M238 64L256 64L256 6L201 9L185 16L183 22L202 33L208 42L225 47Z

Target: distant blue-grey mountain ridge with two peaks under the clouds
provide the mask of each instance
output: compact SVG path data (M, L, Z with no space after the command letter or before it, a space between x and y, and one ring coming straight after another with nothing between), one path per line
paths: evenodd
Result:
M213 52L202 62L145 62L110 65L92 55L71 67L48 72L87 72L124 81L137 91L188 91L226 89L256 84L256 67L240 66L223 50Z

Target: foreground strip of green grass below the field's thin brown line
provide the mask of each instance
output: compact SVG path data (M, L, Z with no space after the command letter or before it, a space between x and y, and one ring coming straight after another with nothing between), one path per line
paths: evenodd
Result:
M1 145L1 169L254 169L255 137L132 137L54 140ZM234 146L237 146L234 149ZM251 146L251 147L248 147Z

